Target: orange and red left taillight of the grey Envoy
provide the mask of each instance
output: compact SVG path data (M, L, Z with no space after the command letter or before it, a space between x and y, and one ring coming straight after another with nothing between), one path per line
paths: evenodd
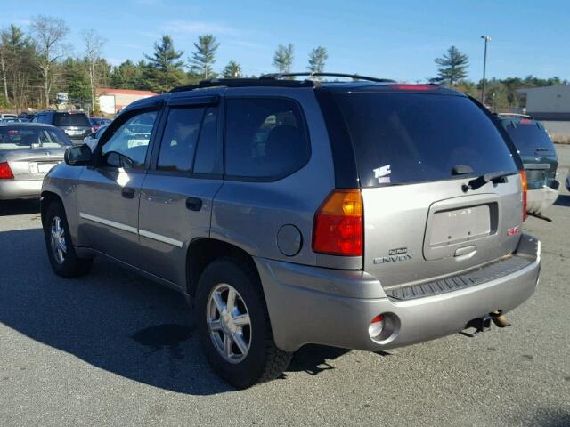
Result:
M313 251L362 256L362 196L358 189L336 189L314 215Z

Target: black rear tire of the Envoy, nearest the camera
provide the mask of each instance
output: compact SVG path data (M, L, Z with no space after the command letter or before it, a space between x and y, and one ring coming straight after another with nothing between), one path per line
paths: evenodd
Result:
M241 332L237 333L231 330L235 326L227 326L227 315L226 320L222 320L221 311L214 302L216 298L213 295L218 294L222 299L221 302L224 302L225 296L227 307L230 292L228 286L236 291L235 308L232 314L236 317L232 318L242 318L244 312L248 314L249 326L241 326ZM199 278L195 302L194 314L202 349L209 365L227 383L239 389L245 389L256 383L264 383L279 377L289 366L293 353L280 350L275 346L261 284L256 274L247 266L232 258L222 258L211 262ZM217 315L220 319L220 329L211 332L210 322ZM232 320L229 320L229 323L231 322ZM232 361L228 360L227 351L224 350L223 337L226 332L230 332L235 337L232 339L231 352L235 355ZM245 356L237 343L240 335L241 347L244 343L248 345ZM224 348L221 349L220 344L223 344Z

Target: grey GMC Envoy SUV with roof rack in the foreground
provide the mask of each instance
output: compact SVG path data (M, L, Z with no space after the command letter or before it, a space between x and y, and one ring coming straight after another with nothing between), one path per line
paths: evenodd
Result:
M216 80L134 102L45 178L53 270L101 255L180 291L240 388L306 343L504 326L540 270L509 136L461 93L370 80Z

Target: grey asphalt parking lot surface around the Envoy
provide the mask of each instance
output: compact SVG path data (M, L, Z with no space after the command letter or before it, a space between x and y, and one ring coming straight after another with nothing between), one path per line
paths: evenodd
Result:
M557 146L560 178L570 145ZM541 282L513 326L376 354L300 350L235 391L202 357L183 298L96 261L53 275L37 202L0 212L0 425L570 425L570 194L529 218Z

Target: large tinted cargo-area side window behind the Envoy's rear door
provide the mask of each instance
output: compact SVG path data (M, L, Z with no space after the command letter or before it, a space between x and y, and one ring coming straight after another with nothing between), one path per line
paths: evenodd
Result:
M310 147L297 102L243 98L226 102L225 173L272 180L306 164Z

